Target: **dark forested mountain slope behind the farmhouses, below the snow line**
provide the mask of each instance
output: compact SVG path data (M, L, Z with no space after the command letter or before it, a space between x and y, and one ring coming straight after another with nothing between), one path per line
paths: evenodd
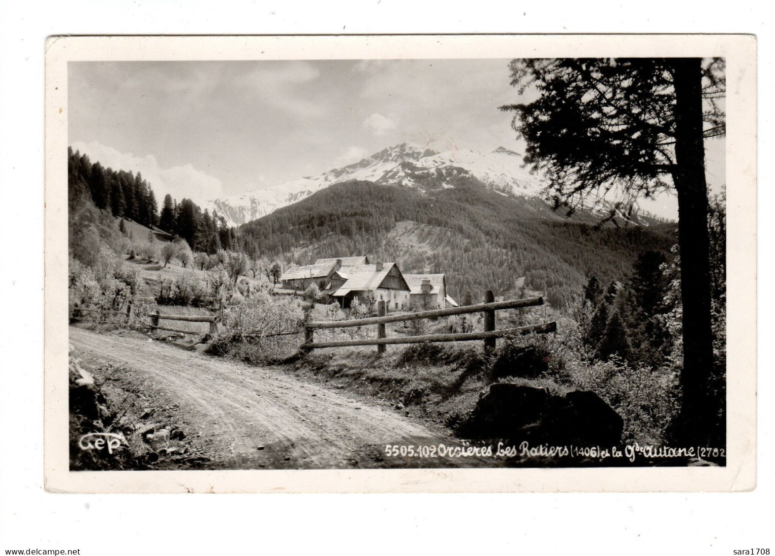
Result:
M527 287L546 292L557 307L577 299L589 276L622 280L640 253L667 253L675 243L674 225L597 226L592 215L569 219L538 199L505 197L475 178L451 185L422 194L365 181L335 184L243 225L243 242L249 252L296 263L360 254L396 260L407 273L446 273L449 292L458 296L484 289L502 295L525 276ZM432 251L386 241L399 221L451 235L439 235L444 239Z

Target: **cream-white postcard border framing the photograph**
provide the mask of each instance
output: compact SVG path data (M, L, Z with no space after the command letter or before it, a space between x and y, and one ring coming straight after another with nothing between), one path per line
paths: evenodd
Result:
M67 493L741 491L756 484L756 39L746 35L51 37L46 53L44 481ZM727 465L70 472L67 62L514 57L727 60Z

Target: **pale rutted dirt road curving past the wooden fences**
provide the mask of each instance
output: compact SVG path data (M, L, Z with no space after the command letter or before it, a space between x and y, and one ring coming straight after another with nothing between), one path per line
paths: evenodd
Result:
M80 328L70 328L70 341L84 362L126 363L122 372L159 403L174 405L188 437L219 468L477 465L471 458L384 457L385 444L458 443L389 405L364 403L281 369Z

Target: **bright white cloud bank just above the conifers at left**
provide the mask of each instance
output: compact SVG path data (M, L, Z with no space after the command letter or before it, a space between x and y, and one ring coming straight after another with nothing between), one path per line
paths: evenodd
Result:
M96 141L76 141L71 146L73 150L88 154L91 162L98 161L105 168L142 173L143 178L153 188L159 205L166 194L170 194L177 201L188 198L200 205L223 195L221 180L197 170L191 163L163 168L153 155L140 157L132 153L121 153Z

